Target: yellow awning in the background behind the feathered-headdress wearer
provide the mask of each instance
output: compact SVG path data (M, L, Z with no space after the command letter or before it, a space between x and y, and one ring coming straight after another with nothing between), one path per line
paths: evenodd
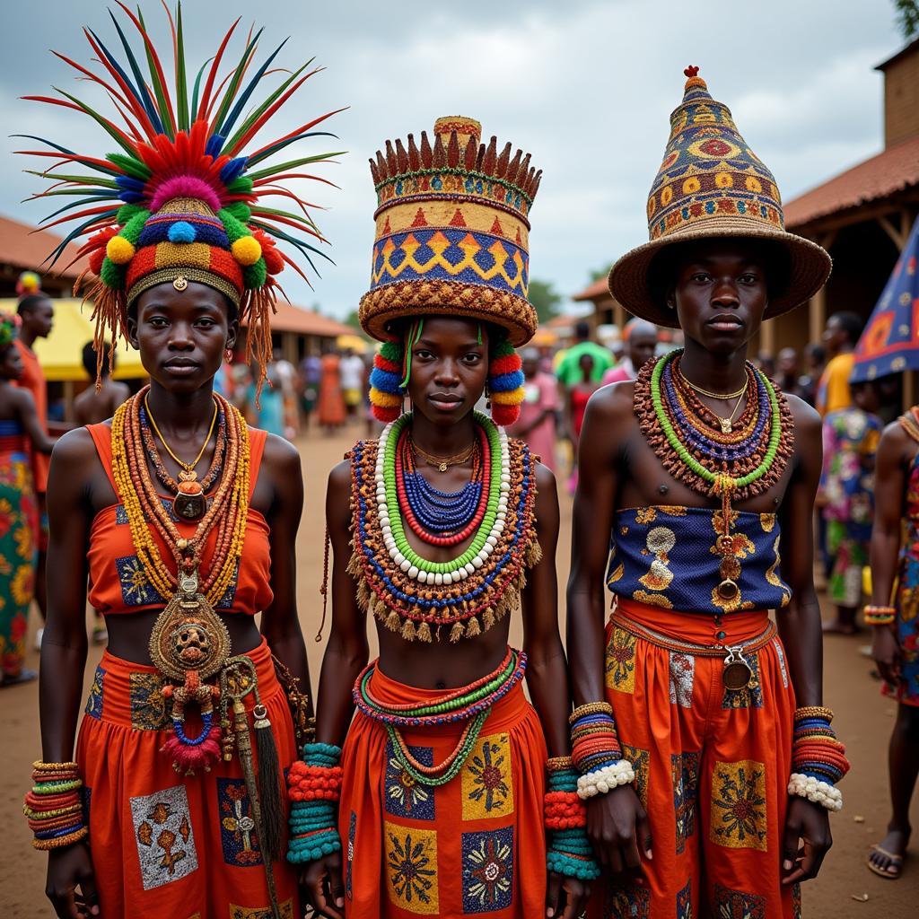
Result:
M35 342L35 353L39 356L41 369L46 380L86 380L83 369L83 347L93 340L93 323L89 317L93 312L91 303L75 299L51 300L54 304L54 327L47 338ZM0 300L0 310L16 312L17 301ZM82 306L82 310L81 310ZM121 342L116 354L116 380L132 377L146 377L147 371L141 364L141 355L130 345Z

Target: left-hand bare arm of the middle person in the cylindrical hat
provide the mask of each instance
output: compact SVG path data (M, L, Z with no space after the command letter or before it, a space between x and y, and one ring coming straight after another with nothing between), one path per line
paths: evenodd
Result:
M354 712L351 687L369 659L367 619L357 607L351 561L351 466L339 463L329 475L325 522L332 540L332 628L319 680L316 738L341 746Z

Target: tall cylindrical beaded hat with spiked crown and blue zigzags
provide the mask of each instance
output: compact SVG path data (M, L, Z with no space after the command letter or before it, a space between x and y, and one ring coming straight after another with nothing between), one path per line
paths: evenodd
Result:
M478 319L507 331L513 346L536 332L527 299L529 210L541 172L530 155L481 142L469 118L437 119L433 142L386 142L370 160L377 191L370 289L360 323L379 341L414 316Z

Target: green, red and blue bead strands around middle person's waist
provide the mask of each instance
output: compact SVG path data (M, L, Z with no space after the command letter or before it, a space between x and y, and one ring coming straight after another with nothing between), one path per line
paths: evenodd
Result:
M446 785L459 775L469 758L494 704L523 679L527 668L525 652L508 648L504 661L492 673L469 686L451 689L424 705L390 705L374 698L370 681L376 662L369 664L357 677L352 697L361 714L386 728L396 759L414 781L429 788ZM465 721L459 741L442 763L425 766L418 762L405 743L400 728L437 727Z

